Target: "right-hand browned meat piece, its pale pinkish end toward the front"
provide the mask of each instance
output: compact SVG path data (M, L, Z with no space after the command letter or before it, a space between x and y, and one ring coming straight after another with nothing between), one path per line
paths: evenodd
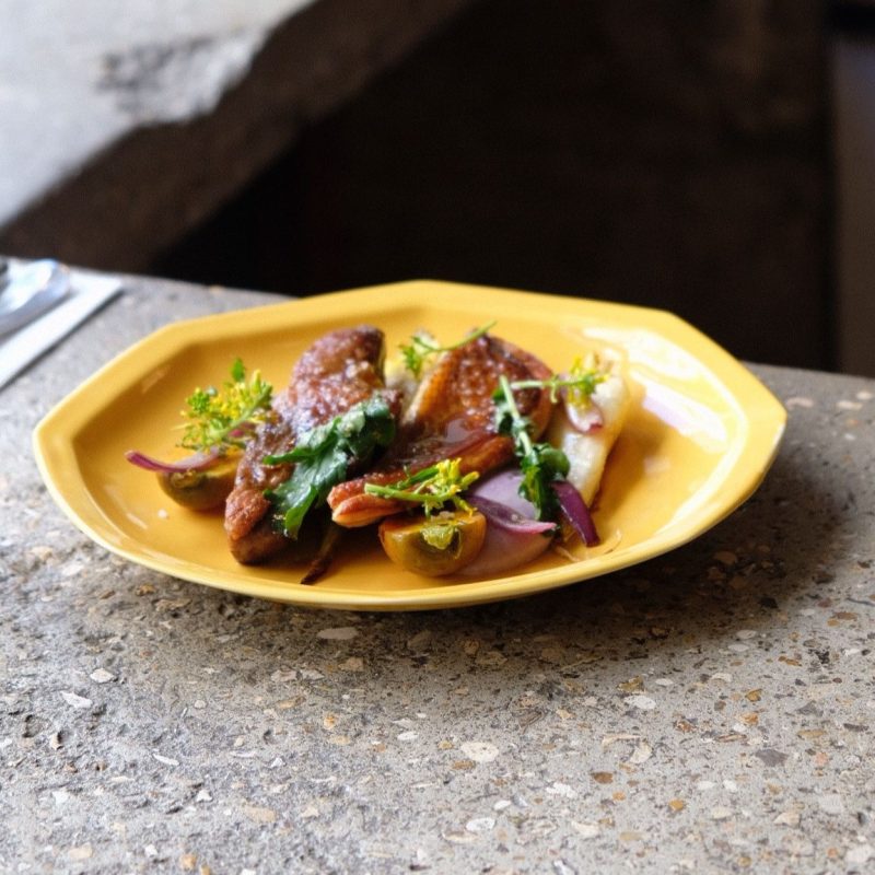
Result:
M446 458L460 458L463 474L483 474L510 462L513 440L494 427L492 395L502 374L511 382L547 380L551 371L532 353L490 335L444 352L420 384L399 438L383 460L365 476L331 490L332 520L341 526L364 526L404 510L401 502L369 495L369 482L397 482ZM549 392L523 389L514 397L539 436L550 419Z

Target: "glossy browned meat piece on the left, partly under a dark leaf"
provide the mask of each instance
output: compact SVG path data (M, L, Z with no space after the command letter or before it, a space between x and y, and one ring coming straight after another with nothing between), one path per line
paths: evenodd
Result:
M292 466L264 465L265 456L288 452L301 435L375 392L397 409L395 394L383 388L384 352L383 332L362 325L323 336L299 359L289 386L275 399L276 417L247 445L225 503L225 532L237 561L262 562L289 544L273 530L264 493L288 480Z

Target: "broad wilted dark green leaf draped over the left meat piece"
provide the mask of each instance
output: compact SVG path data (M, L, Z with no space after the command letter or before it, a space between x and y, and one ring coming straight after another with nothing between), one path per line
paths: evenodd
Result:
M307 512L325 503L331 489L347 478L349 466L365 463L394 436L389 406L385 398L373 395L308 431L291 452L267 456L267 465L295 464L292 476L266 493L273 504L275 527L296 538Z

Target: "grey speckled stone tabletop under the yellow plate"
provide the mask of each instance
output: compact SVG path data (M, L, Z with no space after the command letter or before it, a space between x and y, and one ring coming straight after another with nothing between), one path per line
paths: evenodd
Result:
M645 564L306 611L108 555L30 448L149 330L268 300L128 280L0 394L0 871L872 871L875 382L755 368L773 469Z

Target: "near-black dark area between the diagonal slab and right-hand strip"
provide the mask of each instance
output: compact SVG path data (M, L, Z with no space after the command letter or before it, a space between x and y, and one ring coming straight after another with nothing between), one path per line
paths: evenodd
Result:
M831 368L829 26L816 0L481 0L152 269L609 299Z

